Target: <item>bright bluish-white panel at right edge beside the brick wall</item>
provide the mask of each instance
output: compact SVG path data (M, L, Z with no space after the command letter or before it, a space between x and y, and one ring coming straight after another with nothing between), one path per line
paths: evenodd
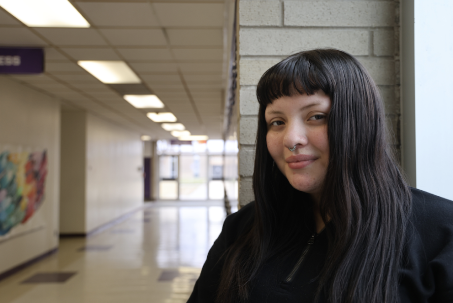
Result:
M453 2L414 1L417 188L453 200Z

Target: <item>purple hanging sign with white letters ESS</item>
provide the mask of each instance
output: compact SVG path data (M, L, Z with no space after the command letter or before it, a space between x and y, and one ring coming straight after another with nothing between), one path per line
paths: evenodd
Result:
M31 47L0 47L0 73L41 73L44 50Z

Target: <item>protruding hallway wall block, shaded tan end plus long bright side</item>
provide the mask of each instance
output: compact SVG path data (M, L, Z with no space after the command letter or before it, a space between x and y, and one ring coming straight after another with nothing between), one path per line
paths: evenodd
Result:
M143 203L140 134L81 111L62 113L61 233L87 234Z

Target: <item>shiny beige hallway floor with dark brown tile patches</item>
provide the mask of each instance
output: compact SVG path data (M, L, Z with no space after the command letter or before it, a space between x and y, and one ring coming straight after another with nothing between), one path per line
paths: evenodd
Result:
M222 202L150 202L0 281L0 303L183 303L222 229Z

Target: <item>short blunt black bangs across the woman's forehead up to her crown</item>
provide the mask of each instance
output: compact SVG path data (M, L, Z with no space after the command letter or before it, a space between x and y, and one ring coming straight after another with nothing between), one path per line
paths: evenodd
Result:
M333 77L323 58L333 49L318 49L300 52L269 68L258 82L257 97L261 106L266 106L281 97L313 95L322 90L330 96ZM328 60L327 60L328 61ZM329 81L330 80L330 81Z

